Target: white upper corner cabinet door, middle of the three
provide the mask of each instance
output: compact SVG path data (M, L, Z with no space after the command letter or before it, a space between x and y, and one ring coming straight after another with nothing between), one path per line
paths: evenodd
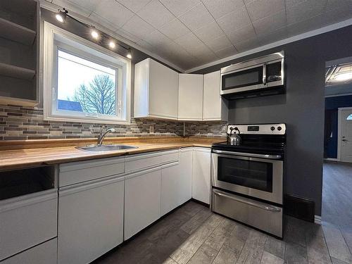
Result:
M203 75L179 74L178 118L202 120Z

